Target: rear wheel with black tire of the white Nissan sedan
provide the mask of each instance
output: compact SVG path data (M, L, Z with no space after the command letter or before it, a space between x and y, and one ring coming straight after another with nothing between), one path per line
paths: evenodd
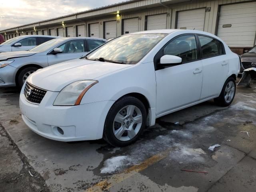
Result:
M222 107L229 106L234 100L235 94L236 94L236 82L233 77L229 77L224 83L220 96L218 98L215 98L214 102L218 106L222 106Z

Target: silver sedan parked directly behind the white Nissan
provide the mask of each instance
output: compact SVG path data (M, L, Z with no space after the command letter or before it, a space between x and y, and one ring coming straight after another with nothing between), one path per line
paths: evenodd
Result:
M21 87L36 70L79 58L106 41L87 37L56 38L30 51L0 53L0 87Z

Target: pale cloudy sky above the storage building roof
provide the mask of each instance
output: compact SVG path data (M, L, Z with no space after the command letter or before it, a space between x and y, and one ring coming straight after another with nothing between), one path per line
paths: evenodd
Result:
M0 30L125 0L0 0Z

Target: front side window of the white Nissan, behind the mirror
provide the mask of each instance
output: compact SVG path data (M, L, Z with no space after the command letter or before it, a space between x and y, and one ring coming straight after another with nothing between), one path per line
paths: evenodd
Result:
M184 35L172 40L164 47L164 55L174 55L182 58L182 63L197 59L196 37Z

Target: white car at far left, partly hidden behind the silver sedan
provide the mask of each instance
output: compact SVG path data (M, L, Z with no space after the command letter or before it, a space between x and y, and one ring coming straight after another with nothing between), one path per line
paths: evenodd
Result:
M54 38L57 37L48 35L22 35L14 37L0 44L0 53L30 50Z

